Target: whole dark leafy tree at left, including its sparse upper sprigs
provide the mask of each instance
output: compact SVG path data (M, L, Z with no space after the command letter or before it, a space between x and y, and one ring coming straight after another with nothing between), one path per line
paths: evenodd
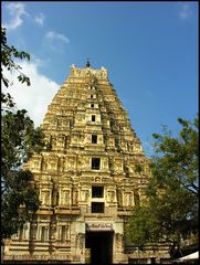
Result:
M7 44L6 29L1 28L2 66L8 70L19 70L14 57L29 59L29 54L18 52ZM2 74L1 81L10 85ZM27 82L29 77L22 73L19 82ZM33 121L25 109L15 109L10 94L1 93L1 244L3 240L17 233L31 213L36 211L40 201L33 182L32 173L23 169L24 162L34 151L44 147L43 134L34 128Z

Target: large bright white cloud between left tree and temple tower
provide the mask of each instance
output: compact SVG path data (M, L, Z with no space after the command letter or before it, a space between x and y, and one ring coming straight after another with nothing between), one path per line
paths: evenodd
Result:
M60 88L60 85L54 81L39 73L36 63L20 63L22 73L31 80L31 86L18 82L18 73L6 73L13 85L9 88L3 88L9 92L17 103L19 109L27 109L29 116L33 119L35 126L42 124L48 112L48 106L51 104L53 96Z

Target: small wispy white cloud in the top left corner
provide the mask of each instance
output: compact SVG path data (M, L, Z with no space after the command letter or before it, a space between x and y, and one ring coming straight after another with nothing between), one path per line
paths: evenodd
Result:
M23 22L22 15L29 15L24 3L11 2L7 4L7 9L10 15L10 22L4 24L7 30L15 30Z

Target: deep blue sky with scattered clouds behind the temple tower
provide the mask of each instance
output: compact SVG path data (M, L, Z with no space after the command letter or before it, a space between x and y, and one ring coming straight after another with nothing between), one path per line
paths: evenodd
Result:
M106 67L133 128L151 155L151 134L198 113L198 2L2 2L8 42L31 54L31 87L14 83L18 107L36 125L70 65ZM12 74L13 76L14 74Z

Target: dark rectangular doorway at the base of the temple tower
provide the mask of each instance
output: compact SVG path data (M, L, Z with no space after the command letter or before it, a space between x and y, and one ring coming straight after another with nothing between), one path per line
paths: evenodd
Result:
M92 264L112 264L113 231L86 232L85 247L91 250Z

